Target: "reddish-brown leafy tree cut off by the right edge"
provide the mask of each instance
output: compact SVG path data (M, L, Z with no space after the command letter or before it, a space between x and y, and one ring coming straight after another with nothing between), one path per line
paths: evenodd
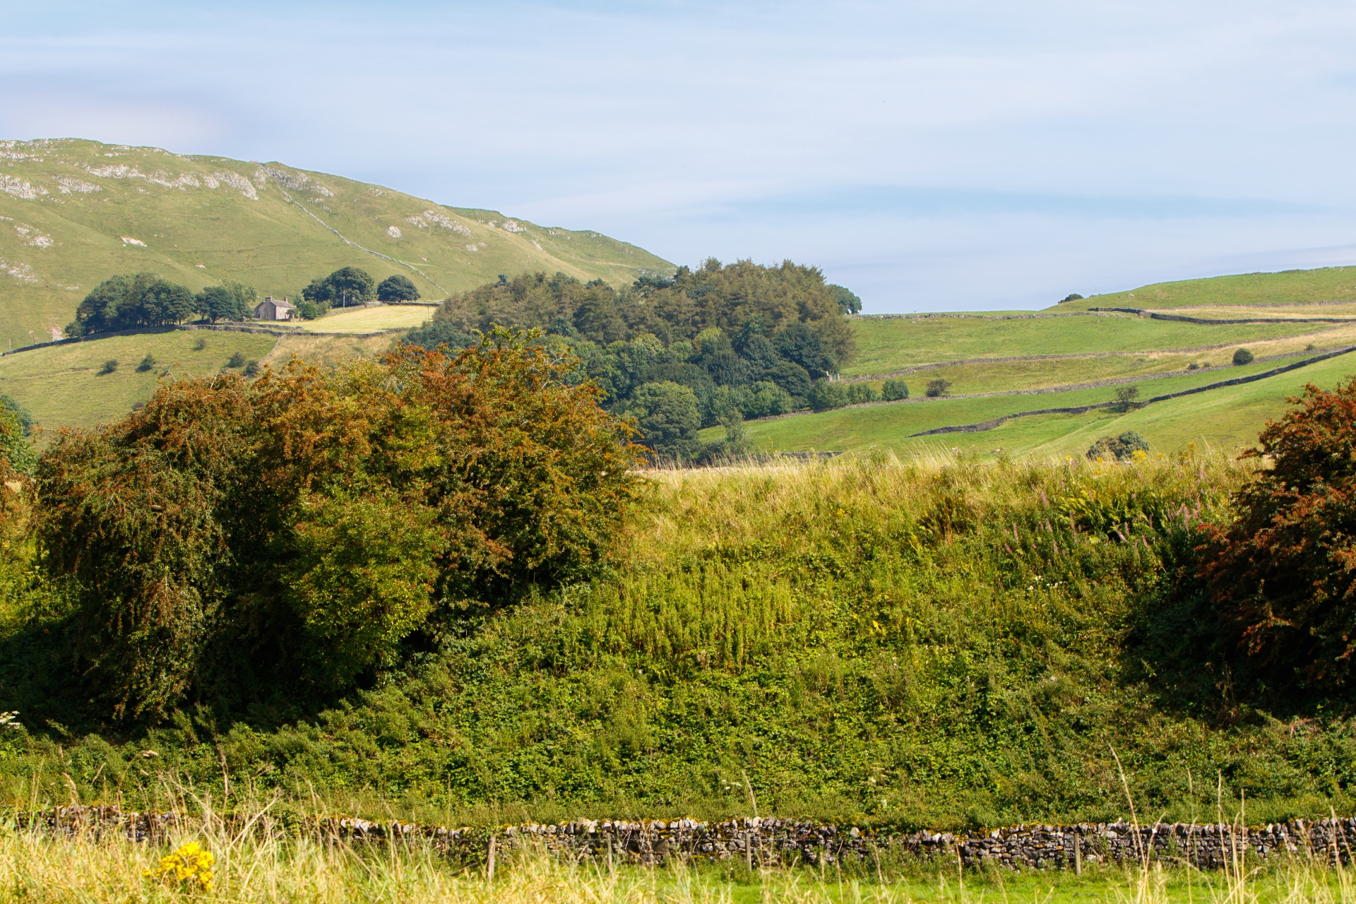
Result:
M1211 602L1261 674L1280 684L1349 684L1356 667L1356 378L1314 385L1246 453L1269 465L1207 527Z

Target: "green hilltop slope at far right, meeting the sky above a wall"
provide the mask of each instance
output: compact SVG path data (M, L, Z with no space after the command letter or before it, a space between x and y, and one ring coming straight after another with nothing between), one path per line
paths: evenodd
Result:
M1047 310L1273 305L1315 301L1356 301L1356 267L1287 270L1158 282L1139 289L1093 295L1082 301L1069 301L1047 308Z

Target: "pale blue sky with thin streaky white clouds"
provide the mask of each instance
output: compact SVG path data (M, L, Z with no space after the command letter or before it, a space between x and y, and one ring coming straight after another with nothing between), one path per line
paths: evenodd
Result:
M1356 263L1356 5L0 0L0 137L281 160L868 312Z

